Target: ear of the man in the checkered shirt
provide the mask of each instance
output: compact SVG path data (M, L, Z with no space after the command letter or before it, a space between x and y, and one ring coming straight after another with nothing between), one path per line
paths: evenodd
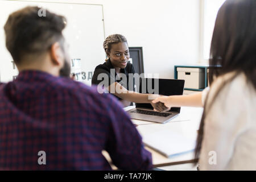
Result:
M56 42L52 44L50 49L50 55L52 63L55 65L60 65L61 67L64 64L64 53L60 47L60 43Z

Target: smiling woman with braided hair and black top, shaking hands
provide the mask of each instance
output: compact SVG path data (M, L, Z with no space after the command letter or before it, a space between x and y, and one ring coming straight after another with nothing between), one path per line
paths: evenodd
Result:
M100 64L95 68L92 77L92 84L99 85L102 82L100 75L105 73L108 77L108 86L105 88L109 91L112 91L111 88L114 88L114 92L110 93L114 94L114 96L122 102L123 106L129 106L131 102L151 103L151 105L158 111L164 111L167 109L167 107L160 102L153 104L152 100L148 99L148 96L152 94L134 92L134 84L129 84L129 74L134 74L134 68L133 65L128 62L130 54L125 36L120 34L110 35L103 43L103 47L108 59L105 60L104 64ZM125 82L118 79L118 76L121 73L126 75Z

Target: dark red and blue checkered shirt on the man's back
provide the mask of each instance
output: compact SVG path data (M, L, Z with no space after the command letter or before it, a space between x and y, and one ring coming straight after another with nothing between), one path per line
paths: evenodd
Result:
M141 136L110 94L40 71L0 84L1 169L110 170L102 150L119 169L152 168Z

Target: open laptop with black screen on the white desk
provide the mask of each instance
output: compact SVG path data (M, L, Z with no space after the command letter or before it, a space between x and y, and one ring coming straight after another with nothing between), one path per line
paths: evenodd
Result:
M161 79L161 78L141 78L139 84L139 93L142 93L142 85L146 93L148 93L148 84L150 84L152 90L155 90L155 79L159 81L159 93L163 96L182 95L184 90L184 80L176 79ZM144 83L144 84L142 84ZM145 88L146 85L146 88ZM150 88L150 89L151 89ZM143 92L145 93L145 92ZM134 109L128 110L131 119L139 119L143 121L151 121L158 123L166 123L172 118L176 117L180 113L180 107L171 107L170 110L163 113L154 111L151 104L135 104Z

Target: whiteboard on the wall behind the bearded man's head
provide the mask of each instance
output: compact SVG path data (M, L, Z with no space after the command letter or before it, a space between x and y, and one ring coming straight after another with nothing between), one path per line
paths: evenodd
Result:
M67 27L63 34L69 44L71 65L77 65L72 64L72 62L80 61L81 68L79 70L81 74L76 78L87 85L91 85L95 67L104 63L106 58L102 47L105 40L103 7L102 5L59 2L0 0L0 81L12 81L18 75L18 70L5 46L3 26L9 14L28 5L46 8L52 13L63 15L67 18Z

